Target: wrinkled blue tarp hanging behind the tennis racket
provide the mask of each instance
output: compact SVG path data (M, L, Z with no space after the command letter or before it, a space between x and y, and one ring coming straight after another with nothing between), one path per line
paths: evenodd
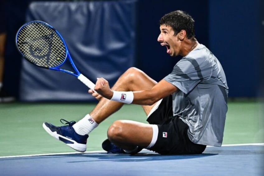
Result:
M63 36L78 70L110 85L135 65L136 0L32 2L26 21L45 21ZM64 69L72 70L69 62ZM21 101L96 101L76 77L22 60Z

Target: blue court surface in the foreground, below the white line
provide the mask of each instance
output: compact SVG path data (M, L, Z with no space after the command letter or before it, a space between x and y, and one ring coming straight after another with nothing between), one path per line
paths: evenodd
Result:
M199 155L87 152L0 158L1 175L263 175L264 145L207 147Z

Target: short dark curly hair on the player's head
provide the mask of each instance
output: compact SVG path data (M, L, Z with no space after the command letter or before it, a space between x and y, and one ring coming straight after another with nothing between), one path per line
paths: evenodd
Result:
M177 35L177 33L181 30L185 30L188 39L195 37L193 18L191 15L181 10L165 14L159 20L159 25L171 26L174 31L174 35Z

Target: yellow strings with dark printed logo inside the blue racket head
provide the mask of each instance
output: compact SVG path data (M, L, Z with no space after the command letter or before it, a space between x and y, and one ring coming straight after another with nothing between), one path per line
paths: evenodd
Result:
M42 67L59 66L66 58L66 48L59 35L40 22L25 25L18 34L17 45L29 61Z

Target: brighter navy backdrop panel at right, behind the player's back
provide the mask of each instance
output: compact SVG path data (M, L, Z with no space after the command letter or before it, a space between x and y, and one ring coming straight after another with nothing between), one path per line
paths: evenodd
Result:
M230 97L256 97L263 92L262 0L210 1L209 47L227 77Z

